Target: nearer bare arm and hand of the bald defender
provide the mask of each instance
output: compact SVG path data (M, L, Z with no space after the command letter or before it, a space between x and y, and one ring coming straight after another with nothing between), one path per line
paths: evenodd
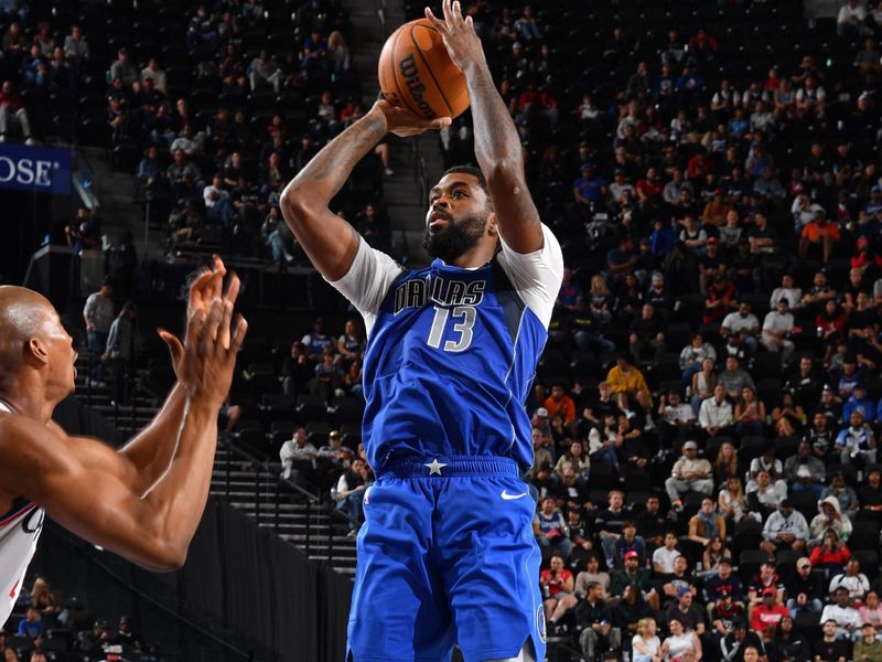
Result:
M241 318L230 330L232 317L232 303L215 299L207 317L198 310L189 320L178 364L185 396L174 430L179 450L147 495L92 462L82 453L85 441L71 444L57 426L17 415L0 417L0 484L84 538L144 567L180 567L208 496L217 412L247 330Z

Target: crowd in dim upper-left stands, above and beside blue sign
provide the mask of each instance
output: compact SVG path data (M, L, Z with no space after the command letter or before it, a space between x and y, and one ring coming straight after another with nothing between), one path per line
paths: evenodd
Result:
M303 260L279 195L365 113L340 0L0 8L0 140L107 146L175 253ZM71 130L67 131L66 128ZM373 159L373 160L372 160ZM389 248L387 145L337 209Z

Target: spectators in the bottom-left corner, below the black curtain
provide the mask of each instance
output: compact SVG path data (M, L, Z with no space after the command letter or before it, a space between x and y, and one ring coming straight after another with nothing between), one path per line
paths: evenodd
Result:
M0 651L4 662L159 659L155 647L149 647L135 629L131 617L119 617L116 628L103 618L93 622L77 600L56 598L43 577L35 577L19 594L13 615L0 628Z

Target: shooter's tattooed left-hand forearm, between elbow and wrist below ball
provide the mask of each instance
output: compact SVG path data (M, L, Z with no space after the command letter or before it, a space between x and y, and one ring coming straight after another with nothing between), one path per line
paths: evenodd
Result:
M353 168L387 134L383 113L372 109L322 148L288 184L282 196L306 207L327 206Z

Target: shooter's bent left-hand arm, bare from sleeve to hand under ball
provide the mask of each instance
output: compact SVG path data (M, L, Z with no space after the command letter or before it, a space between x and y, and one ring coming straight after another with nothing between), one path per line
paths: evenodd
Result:
M286 186L282 216L322 276L327 280L345 276L358 250L355 229L327 207L355 164L389 131L413 136L449 124L450 118L422 119L380 99L315 154Z

